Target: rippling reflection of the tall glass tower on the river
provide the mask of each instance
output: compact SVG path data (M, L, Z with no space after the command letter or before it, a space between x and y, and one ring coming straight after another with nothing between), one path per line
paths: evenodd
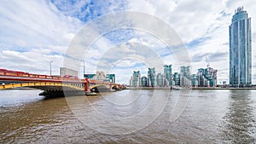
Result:
M232 143L255 142L255 113L251 90L232 90L224 117L224 140ZM255 96L255 95L254 95Z

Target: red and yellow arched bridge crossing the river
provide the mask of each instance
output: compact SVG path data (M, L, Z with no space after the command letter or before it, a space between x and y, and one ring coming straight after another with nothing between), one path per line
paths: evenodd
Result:
M90 94L92 91L125 89L124 85L74 76L48 76L0 69L0 89L20 87L42 89L44 94Z

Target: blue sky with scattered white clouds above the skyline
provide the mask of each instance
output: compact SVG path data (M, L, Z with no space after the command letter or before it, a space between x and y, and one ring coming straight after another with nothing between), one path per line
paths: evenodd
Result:
M3 0L0 68L49 74L53 61L52 73L58 75L68 60L71 62L68 66L79 71L80 76L84 65L86 73L115 73L117 83L129 84L133 71L146 76L148 67L163 72L163 65L172 65L173 72L178 72L183 65L181 55L186 55L191 61L191 73L207 67L207 57L210 66L218 70L218 84L229 82L229 26L235 9L241 6L252 18L253 84L256 84L253 0ZM137 13L137 16L114 18L116 12ZM154 25L154 20L160 20L153 27L157 29L155 32L170 26L173 38L182 42L185 49L179 49L178 53L167 49L163 37L143 29ZM114 29L124 25L131 28ZM94 39L90 47L77 45L76 42L89 43L94 34L101 37Z

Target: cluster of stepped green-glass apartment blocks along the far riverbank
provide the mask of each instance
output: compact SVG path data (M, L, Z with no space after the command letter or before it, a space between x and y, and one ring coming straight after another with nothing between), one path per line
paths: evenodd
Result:
M139 71L134 71L131 79L131 87L151 87L170 89L174 87L217 87L217 72L218 70L213 69L210 66L207 68L198 69L197 74L190 74L189 66L181 66L180 72L174 72L172 74L172 65L164 66L164 74L156 73L155 68L148 68L148 77L143 76ZM170 76L171 84L169 84L168 76ZM165 88L164 88L165 87ZM161 88L162 89L162 88Z

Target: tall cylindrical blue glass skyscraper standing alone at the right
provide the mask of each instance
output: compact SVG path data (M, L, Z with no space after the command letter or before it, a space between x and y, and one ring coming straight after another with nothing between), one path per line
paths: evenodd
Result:
M230 25L230 86L252 84L251 18L243 8L235 10Z

